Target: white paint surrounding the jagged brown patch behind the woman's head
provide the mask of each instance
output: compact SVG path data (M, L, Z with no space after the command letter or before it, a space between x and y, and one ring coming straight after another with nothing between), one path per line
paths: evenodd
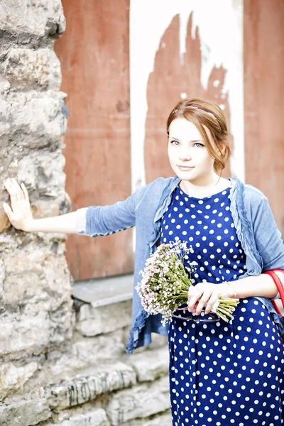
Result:
M207 88L210 73L226 70L223 97L228 94L234 152L232 175L244 180L243 0L131 0L130 100L131 180L133 192L145 185L144 140L148 111L147 84L160 40L180 14L180 58L185 53L187 23L192 13L192 38L198 28L202 52L200 80ZM226 19L224 19L226 16ZM165 46L163 45L163 48Z

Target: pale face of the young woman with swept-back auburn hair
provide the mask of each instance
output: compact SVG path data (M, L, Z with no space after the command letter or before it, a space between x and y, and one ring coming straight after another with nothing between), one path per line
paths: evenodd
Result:
M208 131L207 134L212 143L212 136ZM173 171L181 180L197 182L214 173L214 159L200 132L187 119L175 119L170 124L168 156Z

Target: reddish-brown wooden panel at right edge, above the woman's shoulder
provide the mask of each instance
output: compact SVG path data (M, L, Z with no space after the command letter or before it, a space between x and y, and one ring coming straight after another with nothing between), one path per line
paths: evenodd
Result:
M244 1L246 182L268 197L284 234L284 3Z

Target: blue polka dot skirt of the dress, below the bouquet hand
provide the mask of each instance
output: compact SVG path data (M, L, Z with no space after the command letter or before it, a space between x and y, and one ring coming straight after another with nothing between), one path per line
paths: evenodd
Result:
M283 425L284 346L278 329L254 297L241 300L234 315L229 323L170 324L174 426Z

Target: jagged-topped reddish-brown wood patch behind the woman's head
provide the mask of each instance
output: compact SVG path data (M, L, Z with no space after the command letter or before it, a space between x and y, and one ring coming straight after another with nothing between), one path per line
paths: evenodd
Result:
M180 27L179 18L175 16L160 40L160 47L155 55L154 70L148 80L148 115L146 119L145 162L146 181L151 182L159 176L173 176L168 162L168 138L166 121L168 114L180 100L180 94L186 93L187 99L203 97L212 99L217 104L224 104L224 114L229 126L229 104L222 97L225 70L214 68L209 77L207 90L201 85L201 51L198 33L192 39L192 18L188 21L186 53L183 64L180 62ZM214 87L214 80L219 86ZM229 135L233 148L233 140ZM230 175L229 163L223 171L223 177Z

